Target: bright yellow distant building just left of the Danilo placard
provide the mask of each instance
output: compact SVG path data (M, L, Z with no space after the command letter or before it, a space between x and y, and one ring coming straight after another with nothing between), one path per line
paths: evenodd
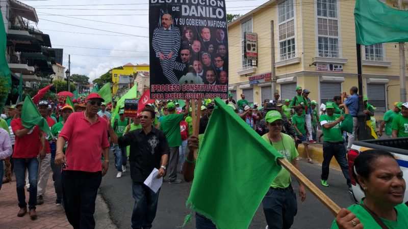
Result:
M134 85L134 80L137 72L149 72L150 66L148 64L127 63L122 66L123 69L112 70L112 94L116 95L119 89L128 88L130 84Z

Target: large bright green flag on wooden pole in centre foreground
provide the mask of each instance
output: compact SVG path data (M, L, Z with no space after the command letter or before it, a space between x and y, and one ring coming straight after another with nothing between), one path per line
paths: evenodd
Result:
M282 155L224 101L217 98L215 104L187 204L219 229L247 229L281 171L277 158Z

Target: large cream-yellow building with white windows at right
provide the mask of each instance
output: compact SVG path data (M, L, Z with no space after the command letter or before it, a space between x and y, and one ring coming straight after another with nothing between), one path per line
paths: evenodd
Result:
M384 2L397 4L396 0ZM296 85L311 91L309 97L319 103L341 92L348 94L353 85L358 86L354 4L339 0L271 0L228 24L230 92L238 99L245 94L248 102L272 99L273 43L276 89L281 99L293 98ZM257 66L251 66L244 56L244 32L258 35ZM362 46L363 92L377 107L376 116L382 116L399 101L398 53L394 43Z

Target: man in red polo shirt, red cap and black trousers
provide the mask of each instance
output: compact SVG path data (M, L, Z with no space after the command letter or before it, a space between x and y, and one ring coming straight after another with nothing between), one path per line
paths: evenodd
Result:
M95 228L93 213L102 177L109 168L108 123L97 115L104 99L91 93L84 112L72 113L57 140L55 163L62 164L65 214L73 228ZM65 142L68 147L63 153ZM101 153L104 162L101 163Z

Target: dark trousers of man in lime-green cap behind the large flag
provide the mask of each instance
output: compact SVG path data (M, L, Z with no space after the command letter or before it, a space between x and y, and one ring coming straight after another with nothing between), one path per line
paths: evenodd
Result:
M269 188L262 200L269 229L288 229L297 213L296 194L292 186Z

